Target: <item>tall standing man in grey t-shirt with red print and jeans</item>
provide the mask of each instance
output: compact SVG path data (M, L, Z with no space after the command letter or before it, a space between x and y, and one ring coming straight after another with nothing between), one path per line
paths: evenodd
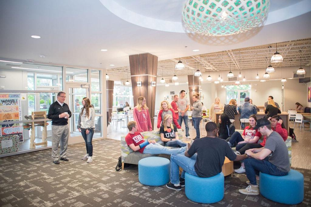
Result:
M178 124L181 126L181 124L185 123L186 128L186 137L187 139L190 139L189 135L189 126L188 126L188 109L189 109L189 99L185 97L186 91L181 90L180 91L180 97L178 99L177 105L178 105L178 111L179 111L179 117L178 117ZM176 117L177 118L177 117Z

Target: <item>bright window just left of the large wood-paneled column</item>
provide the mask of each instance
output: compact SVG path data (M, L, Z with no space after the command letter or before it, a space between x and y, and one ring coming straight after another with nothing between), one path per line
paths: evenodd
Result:
M121 107L124 106L125 102L128 102L130 106L134 105L132 87L114 86L114 100L112 105Z

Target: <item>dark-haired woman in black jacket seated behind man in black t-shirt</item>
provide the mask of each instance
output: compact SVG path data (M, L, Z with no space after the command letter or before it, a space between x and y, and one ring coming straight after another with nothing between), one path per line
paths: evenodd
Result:
M231 123L229 116L225 113L220 114L218 122L218 137L220 139L228 139L227 141L229 141L235 131L235 126Z

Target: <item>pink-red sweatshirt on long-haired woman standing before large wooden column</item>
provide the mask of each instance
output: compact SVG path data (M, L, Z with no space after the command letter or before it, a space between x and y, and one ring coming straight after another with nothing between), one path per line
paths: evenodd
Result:
M137 107L133 110L134 121L137 123L137 131L152 131L152 124L148 109L138 111Z

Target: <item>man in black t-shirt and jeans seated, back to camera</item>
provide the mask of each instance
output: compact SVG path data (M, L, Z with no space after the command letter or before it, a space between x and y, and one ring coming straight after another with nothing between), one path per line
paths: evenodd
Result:
M240 161L246 158L246 155L234 154L226 140L216 137L219 129L215 122L207 122L205 130L207 136L195 139L189 150L185 151L185 156L171 155L171 182L166 184L167 188L180 191L181 187L185 186L185 172L201 178L219 174L225 156L231 161ZM183 168L180 178L179 166Z

